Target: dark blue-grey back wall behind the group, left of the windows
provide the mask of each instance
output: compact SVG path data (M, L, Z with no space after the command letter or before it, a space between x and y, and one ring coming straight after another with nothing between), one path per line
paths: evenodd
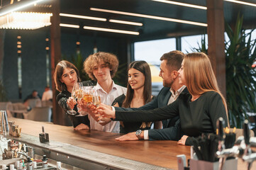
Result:
M46 83L46 42L50 33L48 28L39 30L6 30L4 39L4 70L3 80L7 97L16 101L18 97L18 54L17 35L21 35L22 42L22 98L26 98L34 89L40 96ZM95 35L79 35L80 51L85 60L93 53L94 44L98 51L112 52L118 56L120 63L127 62L126 38L104 38ZM77 34L62 33L62 56L70 59L76 56ZM51 82L50 82L51 84Z

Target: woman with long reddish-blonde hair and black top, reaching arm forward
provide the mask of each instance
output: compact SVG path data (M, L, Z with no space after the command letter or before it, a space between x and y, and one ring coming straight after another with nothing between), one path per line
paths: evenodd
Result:
M179 145L193 145L192 138L202 133L216 132L216 121L222 117L228 126L228 110L211 62L203 52L193 52L184 57L179 69L179 84L187 86L189 94L180 94L176 101L163 108L150 111L111 111L100 105L101 116L118 121L155 121L179 115L185 135ZM138 134L136 134L138 135ZM143 138L143 133L139 134ZM188 137L190 136L190 138Z

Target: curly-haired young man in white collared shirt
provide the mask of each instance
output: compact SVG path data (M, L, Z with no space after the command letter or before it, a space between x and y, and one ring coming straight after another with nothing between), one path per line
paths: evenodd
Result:
M91 79L97 81L94 89L101 97L101 103L106 105L111 105L116 97L126 94L126 88L115 84L112 80L118 69L118 64L116 55L108 52L96 52L94 55L89 55L84 61L84 71ZM79 103L79 107L87 113L88 108L84 102ZM103 120L104 123L98 123L94 114L89 114L89 120L91 130L119 132L119 122L107 118Z

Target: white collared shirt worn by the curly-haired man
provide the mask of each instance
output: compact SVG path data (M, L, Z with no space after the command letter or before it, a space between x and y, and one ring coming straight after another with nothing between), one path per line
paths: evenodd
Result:
M111 91L107 94L104 89L97 83L95 86L95 89L99 96L101 97L101 103L104 103L108 106L111 106L115 98L120 96L121 94L126 94L126 87L119 86L113 82ZM120 131L120 123L118 121L111 121L110 123L106 125L101 125L94 118L91 117L91 115L88 115L88 118L90 120L90 128L91 130L99 130L104 132L116 132L118 133Z

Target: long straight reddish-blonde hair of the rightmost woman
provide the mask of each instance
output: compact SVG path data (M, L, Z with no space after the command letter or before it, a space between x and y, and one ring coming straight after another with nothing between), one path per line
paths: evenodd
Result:
M198 96L206 91L216 91L220 94L228 118L226 99L221 94L220 89L218 89L211 61L206 54L203 52L192 52L184 57L184 78L191 95Z

